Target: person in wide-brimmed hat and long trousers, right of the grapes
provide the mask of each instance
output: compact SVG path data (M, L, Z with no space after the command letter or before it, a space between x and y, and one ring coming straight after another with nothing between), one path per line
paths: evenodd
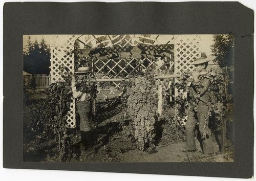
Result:
M209 111L209 84L208 79L203 79L202 75L206 74L209 58L205 53L201 53L201 57L194 60L195 70L192 72L194 79L191 82L188 94L189 108L186 122L186 151L195 152L195 126L197 120L199 122L199 131L202 138L203 153L214 153L214 146L211 142L211 137L208 129L208 120L205 119ZM197 101L196 101L197 100ZM197 107L197 108L196 108Z

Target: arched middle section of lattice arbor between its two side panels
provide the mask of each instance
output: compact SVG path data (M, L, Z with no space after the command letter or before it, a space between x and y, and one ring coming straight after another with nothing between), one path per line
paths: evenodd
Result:
M170 74L174 72L173 40L173 35L83 35L78 38L84 48L77 63L93 66L98 79L129 78L145 71ZM101 85L99 94L105 98L122 90L120 81Z

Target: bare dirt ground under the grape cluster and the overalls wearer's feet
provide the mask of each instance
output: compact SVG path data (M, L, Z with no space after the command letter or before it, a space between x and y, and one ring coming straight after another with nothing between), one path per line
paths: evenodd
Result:
M118 122L121 112L114 117L103 121L97 127L108 128ZM97 128L96 128L97 129ZM230 141L227 142L226 153L220 154L218 148L211 155L203 154L200 142L196 139L196 152L184 152L185 141L161 144L156 146L156 151L140 151L133 147L131 141L123 138L124 133L114 132L104 143L98 142L92 148L82 152L80 157L71 162L233 162L233 148ZM101 138L106 135L102 134ZM218 146L218 145L216 145Z

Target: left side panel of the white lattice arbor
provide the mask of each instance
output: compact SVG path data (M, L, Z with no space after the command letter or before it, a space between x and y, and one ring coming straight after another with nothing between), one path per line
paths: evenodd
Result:
M65 66L74 73L74 42L79 35L56 35L55 42L51 45L51 82L62 81L59 66ZM75 121L75 100L71 102L70 111L67 115L68 126L74 128Z

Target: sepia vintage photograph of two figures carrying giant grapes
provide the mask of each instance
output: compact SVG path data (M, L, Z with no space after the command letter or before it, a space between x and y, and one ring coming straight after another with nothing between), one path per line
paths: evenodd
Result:
M24 162L234 162L234 35L23 35Z

